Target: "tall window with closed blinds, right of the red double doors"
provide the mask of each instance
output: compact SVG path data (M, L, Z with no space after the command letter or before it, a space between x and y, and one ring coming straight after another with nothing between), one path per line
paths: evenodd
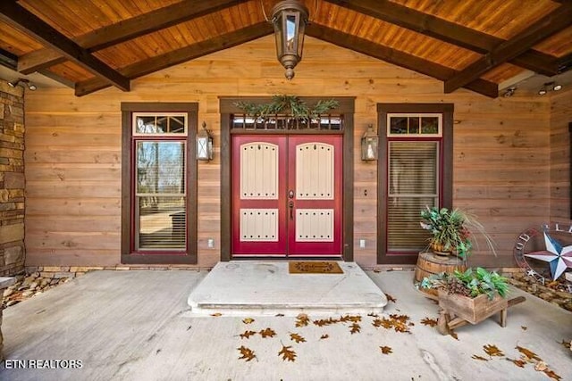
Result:
M435 112L439 108L442 112ZM452 106L383 104L378 111L384 132L378 162L378 262L414 263L429 237L419 225L420 211L450 206Z

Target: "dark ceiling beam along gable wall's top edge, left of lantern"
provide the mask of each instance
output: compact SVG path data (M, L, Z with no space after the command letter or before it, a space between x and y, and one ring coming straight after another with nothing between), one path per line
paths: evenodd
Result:
M133 63L119 71L131 79L136 79L182 62L194 60L206 54L213 54L233 46L245 44L254 39L271 35L272 33L272 24L265 21L258 22L257 24L250 25L247 28L238 29L218 37L210 38L206 41L198 42L191 46L186 46L166 54L157 55L156 57L149 58L145 61ZM109 84L102 79L87 79L76 84L75 95L88 95L105 87L109 87Z

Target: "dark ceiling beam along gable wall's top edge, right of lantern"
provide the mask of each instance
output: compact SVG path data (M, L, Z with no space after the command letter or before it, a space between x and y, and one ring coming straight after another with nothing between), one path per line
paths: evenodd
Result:
M333 45L341 46L370 57L390 62L392 64L414 70L434 79L445 80L457 71L438 63L424 60L413 54L400 52L388 46L381 46L364 38L356 37L341 30L332 29L323 25L312 23L307 26L307 36L319 38ZM475 79L465 87L485 96L496 98L499 96L499 87L496 83L484 79Z

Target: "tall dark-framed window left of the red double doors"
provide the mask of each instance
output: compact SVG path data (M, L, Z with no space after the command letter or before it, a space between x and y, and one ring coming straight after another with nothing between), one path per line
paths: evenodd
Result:
M196 263L196 110L122 104L124 263Z

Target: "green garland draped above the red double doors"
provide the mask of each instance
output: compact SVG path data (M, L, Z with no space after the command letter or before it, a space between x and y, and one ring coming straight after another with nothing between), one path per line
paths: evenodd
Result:
M314 106L310 107L306 102L302 101L295 95L273 95L272 103L270 104L253 104L240 101L235 102L234 105L240 108L243 112L246 112L248 115L253 115L257 118L265 118L279 113L287 113L287 111L290 110L290 114L294 118L309 120L315 119L320 114L324 114L335 109L340 104L338 101L330 99L326 101L318 101Z

